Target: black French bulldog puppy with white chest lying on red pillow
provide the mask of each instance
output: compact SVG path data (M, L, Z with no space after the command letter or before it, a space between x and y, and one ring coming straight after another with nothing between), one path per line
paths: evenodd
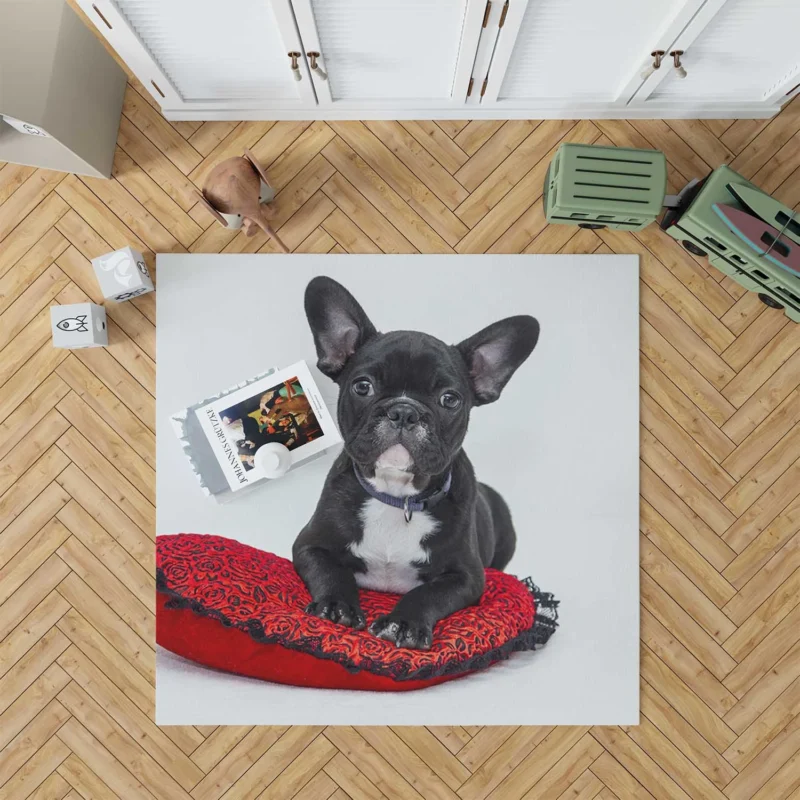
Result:
M370 631L427 649L433 626L476 603L484 567L503 569L516 537L503 498L475 480L461 444L473 406L491 403L531 354L539 323L495 322L461 344L378 333L330 278L306 289L317 366L339 385L344 450L293 547L308 613L361 629L358 587L397 592Z

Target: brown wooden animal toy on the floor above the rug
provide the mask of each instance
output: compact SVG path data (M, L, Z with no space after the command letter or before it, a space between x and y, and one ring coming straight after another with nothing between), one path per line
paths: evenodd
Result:
M221 161L206 178L202 193L198 193L211 215L226 228L244 228L253 236L261 228L271 236L282 252L289 248L281 241L269 219L274 211L266 203L275 196L266 173L249 150L243 156Z

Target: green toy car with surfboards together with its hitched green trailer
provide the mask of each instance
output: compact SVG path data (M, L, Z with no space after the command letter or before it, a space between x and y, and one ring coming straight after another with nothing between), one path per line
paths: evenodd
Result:
M692 254L708 260L763 303L800 322L800 218L728 166L666 195L667 162L659 150L563 144L547 169L548 222L638 231L655 222ZM749 197L747 207L740 195ZM777 211L776 211L777 209ZM741 214L739 212L746 212ZM745 220L749 231L730 220Z

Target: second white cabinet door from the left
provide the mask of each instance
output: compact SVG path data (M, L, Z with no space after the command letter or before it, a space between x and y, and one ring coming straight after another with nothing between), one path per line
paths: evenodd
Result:
M463 103L486 0L292 0L321 106Z

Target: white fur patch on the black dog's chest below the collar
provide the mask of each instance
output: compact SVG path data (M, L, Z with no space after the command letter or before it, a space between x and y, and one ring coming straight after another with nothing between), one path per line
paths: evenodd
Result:
M405 594L419 586L416 563L426 563L430 552L425 539L436 532L439 522L427 511L418 511L406 522L403 510L370 498L361 508L364 536L350 545L362 559L366 572L356 572L362 589Z

